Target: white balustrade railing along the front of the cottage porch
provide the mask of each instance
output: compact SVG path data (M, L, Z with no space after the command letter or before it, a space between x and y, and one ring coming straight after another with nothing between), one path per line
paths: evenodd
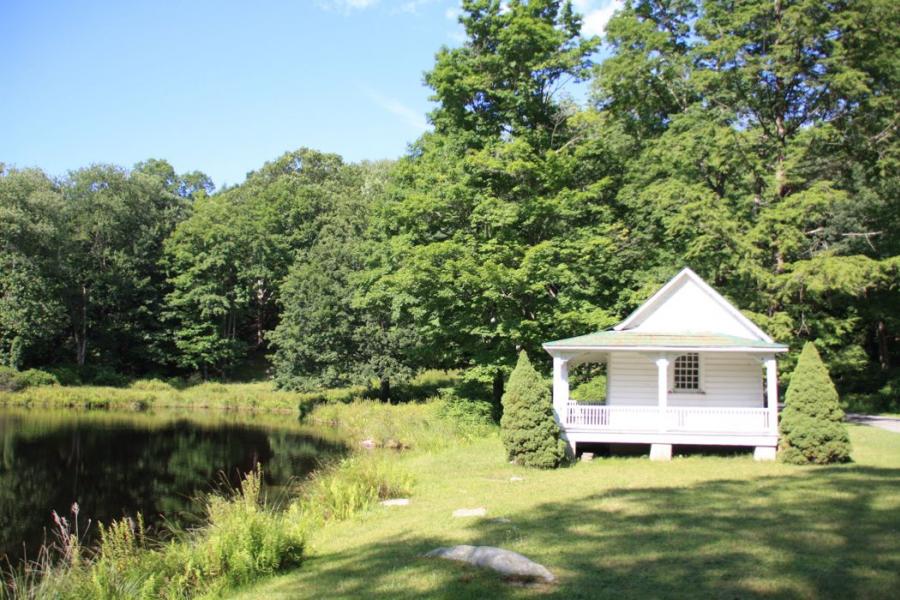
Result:
M719 406L670 406L662 411L657 406L569 402L563 424L604 431L764 433L769 431L769 411Z

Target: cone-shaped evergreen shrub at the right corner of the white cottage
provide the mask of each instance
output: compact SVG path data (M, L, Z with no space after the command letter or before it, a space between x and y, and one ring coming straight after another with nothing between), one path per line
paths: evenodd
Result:
M850 459L850 438L837 390L815 344L807 342L791 376L781 414L779 458L795 465Z

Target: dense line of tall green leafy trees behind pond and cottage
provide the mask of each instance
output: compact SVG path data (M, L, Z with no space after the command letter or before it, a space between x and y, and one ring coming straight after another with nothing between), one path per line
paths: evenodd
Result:
M462 368L607 327L684 265L843 390L897 385L890 0L465 0L395 163L285 154L211 193L161 161L0 177L0 360L286 387ZM598 56L604 56L598 60ZM590 87L587 103L566 95ZM790 365L788 365L790 366ZM890 388L884 388L890 389Z

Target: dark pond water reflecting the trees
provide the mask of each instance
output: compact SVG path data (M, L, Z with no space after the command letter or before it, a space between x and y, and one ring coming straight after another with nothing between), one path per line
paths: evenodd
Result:
M34 558L52 541L51 511L79 523L140 512L151 530L190 526L199 497L262 464L270 498L343 446L292 416L113 413L0 408L0 556ZM277 498L276 498L277 499ZM2 561L5 564L5 561Z

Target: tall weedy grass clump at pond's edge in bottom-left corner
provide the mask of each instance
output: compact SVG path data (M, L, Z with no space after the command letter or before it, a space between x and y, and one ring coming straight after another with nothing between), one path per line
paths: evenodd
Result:
M98 546L74 553L45 550L37 562L6 574L0 598L117 599L215 597L223 590L296 566L305 525L299 505L277 510L261 494L260 469L232 497L207 500L207 522L167 543L150 542L143 521L100 526Z

